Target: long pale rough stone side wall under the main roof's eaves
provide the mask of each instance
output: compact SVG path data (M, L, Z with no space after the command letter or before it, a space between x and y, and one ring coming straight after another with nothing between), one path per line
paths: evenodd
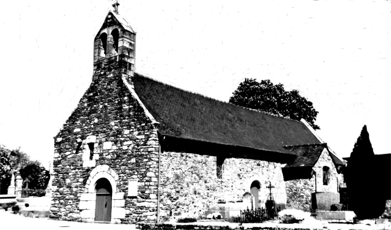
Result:
M217 179L216 157L189 153L161 154L162 220L172 216L203 215L210 205L241 202L253 181L260 182L260 207L264 207L272 182L277 206L285 206L286 194L281 164L250 159L225 159L222 179ZM248 204L244 204L247 206ZM243 207L244 209L245 207ZM251 204L250 204L251 208Z

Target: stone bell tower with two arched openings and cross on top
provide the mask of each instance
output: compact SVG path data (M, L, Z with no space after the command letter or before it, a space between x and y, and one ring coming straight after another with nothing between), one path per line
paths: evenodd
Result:
M117 61L125 68L130 77L134 73L136 32L130 24L118 14L118 2L112 4L102 27L94 40L94 70L104 63ZM126 64L124 66L123 64Z

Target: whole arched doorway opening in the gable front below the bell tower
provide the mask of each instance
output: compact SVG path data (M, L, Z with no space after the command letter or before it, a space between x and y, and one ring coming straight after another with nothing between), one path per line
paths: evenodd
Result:
M111 195L112 189L108 179L101 178L96 182L95 221L111 221Z

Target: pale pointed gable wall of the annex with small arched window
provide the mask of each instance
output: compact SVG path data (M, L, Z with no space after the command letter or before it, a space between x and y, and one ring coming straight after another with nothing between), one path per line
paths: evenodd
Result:
M329 167L329 181L323 185L323 166ZM325 148L319 157L319 160L312 168L316 172L316 191L317 192L338 192L338 173L335 165Z

